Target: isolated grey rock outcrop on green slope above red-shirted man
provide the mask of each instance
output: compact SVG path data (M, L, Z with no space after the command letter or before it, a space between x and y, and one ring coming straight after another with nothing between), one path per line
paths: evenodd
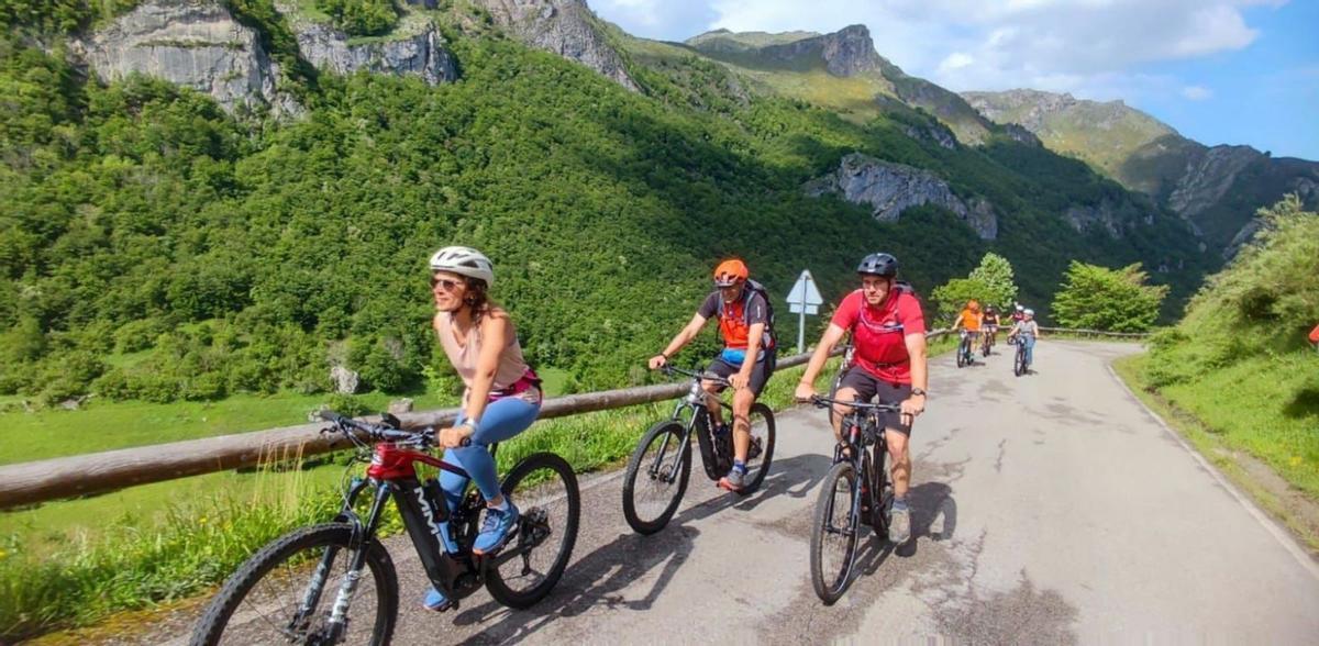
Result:
M859 153L843 157L835 173L811 181L805 190L811 196L838 194L853 204L869 204L880 221L896 221L910 207L934 204L956 214L983 240L998 236L998 218L988 200L963 200L929 170Z

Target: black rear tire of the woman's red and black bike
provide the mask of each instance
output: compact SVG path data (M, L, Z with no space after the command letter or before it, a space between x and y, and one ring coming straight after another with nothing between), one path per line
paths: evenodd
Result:
M526 501L525 496L533 489L520 490L518 485L522 484L528 476L541 469L549 469L554 473L554 476L561 479L563 481L563 492L558 493L547 489L538 480L533 480L530 484L539 488L534 490L543 494L543 500L541 505L532 505ZM513 465L513 468L508 472L508 476L504 476L504 483L500 485L500 489L504 492L504 496L508 496L514 501L514 504L517 504L518 498L521 498L521 504L524 505L521 508L521 522L524 522L522 530L518 533L516 542L510 543L509 547L505 548L522 546L524 541L532 539L528 535L529 531L533 530L529 523L533 522L533 515L536 515L537 510L546 514L545 522L547 525L549 534L545 539L551 539L555 535L555 530L558 530L558 534L563 537L559 542L559 551L549 562L549 566L538 573L539 576L534 579L536 583L529 585L526 589L513 589L506 580L505 568L521 568L520 576L528 576L532 573L530 554L536 550L547 547L546 543L537 544L532 548L532 552L528 552L524 558L514 558L504 563L503 567L491 567L487 570L485 589L489 591L491 596L509 608L525 609L545 599L545 596L554 589L554 585L559 583L559 579L563 577L563 571L568 566L568 559L572 558L572 547L576 546L578 523L582 519L582 492L578 489L576 475L572 472L572 467L568 465L567 460L549 452L529 455ZM549 512L545 512L546 505L557 502L566 504L566 518L563 518L561 527L555 527L553 521L549 518Z

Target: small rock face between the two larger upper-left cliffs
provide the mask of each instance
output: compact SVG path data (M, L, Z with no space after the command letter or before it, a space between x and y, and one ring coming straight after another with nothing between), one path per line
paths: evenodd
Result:
M405 29L402 36L386 41L350 45L348 36L331 25L293 22L298 50L318 69L335 74L365 70L376 74L414 75L433 86L458 79L454 57L433 22L421 21Z

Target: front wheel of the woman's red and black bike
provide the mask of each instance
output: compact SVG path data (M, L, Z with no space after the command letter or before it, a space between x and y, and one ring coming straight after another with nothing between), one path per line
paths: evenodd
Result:
M257 551L211 600L194 646L255 643L389 643L398 616L398 576L375 539L360 546L368 572L351 572L353 527L294 530ZM351 575L351 576L350 576ZM342 624L332 624L336 606Z

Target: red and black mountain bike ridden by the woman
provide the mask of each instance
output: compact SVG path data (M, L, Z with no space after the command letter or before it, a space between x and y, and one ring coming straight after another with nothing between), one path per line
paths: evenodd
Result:
M389 643L398 616L398 575L379 535L389 500L426 577L451 608L483 585L499 602L528 608L563 576L582 502L576 476L562 457L534 454L504 476L504 494L522 510L516 535L499 552L475 555L485 506L480 493L471 488L450 509L438 480L418 480L414 463L467 477L429 454L437 442L433 428L404 431L392 415L379 425L334 411L322 411L321 418L331 423L322 434L347 439L356 450L353 463L369 463L367 477L347 479L355 469L350 464L343 506L331 522L293 530L243 563L202 614L193 645ZM491 454L496 448L492 444ZM364 492L369 496L359 506Z

